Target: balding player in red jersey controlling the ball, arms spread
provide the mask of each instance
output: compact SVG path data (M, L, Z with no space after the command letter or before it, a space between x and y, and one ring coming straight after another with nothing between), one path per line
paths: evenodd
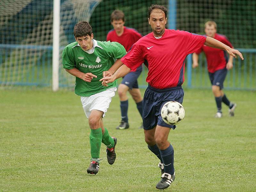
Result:
M181 85L184 81L185 59L189 53L195 52L203 44L226 50L230 55L242 54L208 37L192 34L186 31L165 29L167 9L162 5L151 5L148 8L148 23L153 32L141 37L132 49L121 59L124 63L112 75L113 70L106 71L102 84L108 83L126 75L131 69L140 66L144 60L148 62L148 88L143 98L143 128L148 148L160 160L161 180L156 185L165 189L175 179L174 150L168 141L170 129L175 125L166 124L161 117L161 108L167 101L182 103L184 91Z

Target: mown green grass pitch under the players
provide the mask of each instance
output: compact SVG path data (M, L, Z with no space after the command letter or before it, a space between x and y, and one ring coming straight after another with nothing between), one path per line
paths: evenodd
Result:
M166 191L256 191L256 92L226 91L235 117L215 119L211 90L185 90L185 119L171 130L176 179ZM0 90L0 191L158 191L158 160L144 141L129 98L130 128L120 121L116 95L104 124L118 139L109 165L88 175L89 126L73 92Z

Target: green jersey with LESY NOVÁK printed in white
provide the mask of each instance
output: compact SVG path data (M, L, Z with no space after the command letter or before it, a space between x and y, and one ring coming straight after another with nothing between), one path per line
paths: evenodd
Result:
M62 64L65 69L77 68L83 73L92 73L97 78L91 82L76 77L76 95L89 97L93 94L116 87L116 81L105 87L99 81L103 76L102 72L107 71L115 62L115 59L122 58L126 51L123 45L117 42L93 41L94 51L90 54L85 52L77 42L68 44L62 52Z

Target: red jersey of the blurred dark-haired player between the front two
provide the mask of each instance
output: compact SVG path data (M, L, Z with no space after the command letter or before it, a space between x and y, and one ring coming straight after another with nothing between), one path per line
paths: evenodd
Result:
M115 41L124 46L126 52L130 50L132 45L137 42L142 36L138 31L133 28L124 27L124 32L121 36L117 36L114 29L110 30L107 35L107 41ZM131 70L131 72L136 71L136 69Z

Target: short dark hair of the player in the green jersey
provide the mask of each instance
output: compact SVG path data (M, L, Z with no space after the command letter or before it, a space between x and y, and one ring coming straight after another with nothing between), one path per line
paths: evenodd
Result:
M92 35L92 27L87 21L80 21L76 23L74 27L74 36L83 37L83 36Z

